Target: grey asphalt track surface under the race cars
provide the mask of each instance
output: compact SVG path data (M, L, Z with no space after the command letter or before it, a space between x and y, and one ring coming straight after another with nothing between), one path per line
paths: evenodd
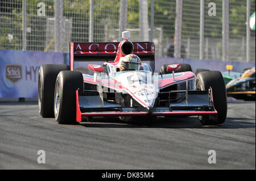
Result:
M39 164L38 150L46 151ZM216 163L208 163L208 150ZM159 118L150 126L117 119L59 125L37 103L0 103L0 169L255 169L255 102L229 102L228 118Z

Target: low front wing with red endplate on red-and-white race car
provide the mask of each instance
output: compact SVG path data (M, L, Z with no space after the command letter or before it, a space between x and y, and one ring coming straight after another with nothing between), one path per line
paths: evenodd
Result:
M172 92L172 91L170 91ZM122 107L117 103L110 103L100 95L79 95L76 91L76 120L93 116L199 116L217 115L214 108L212 89L208 91L175 91L185 92L183 99L171 102L168 106L154 106L150 110L140 107ZM162 92L164 93L164 92Z

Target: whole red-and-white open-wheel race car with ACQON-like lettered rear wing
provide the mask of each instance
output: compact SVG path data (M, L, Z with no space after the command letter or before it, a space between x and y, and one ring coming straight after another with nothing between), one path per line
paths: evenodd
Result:
M219 71L196 76L188 64L166 64L160 74L154 73L154 43L132 43L129 38L130 33L123 32L120 43L71 42L69 66L42 65L40 115L55 117L59 124L99 116L148 123L158 116L198 116L203 124L224 123L226 89ZM75 61L93 62L88 65L93 73L75 71Z

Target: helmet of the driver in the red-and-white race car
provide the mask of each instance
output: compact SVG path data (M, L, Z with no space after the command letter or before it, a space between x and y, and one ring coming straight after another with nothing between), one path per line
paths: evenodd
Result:
M121 59L120 71L139 70L141 67L141 58L136 54L128 54Z

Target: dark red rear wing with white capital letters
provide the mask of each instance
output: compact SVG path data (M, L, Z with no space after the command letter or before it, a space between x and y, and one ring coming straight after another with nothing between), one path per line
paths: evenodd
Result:
M69 64L74 70L75 61L114 61L119 42L104 43L69 43ZM154 42L133 42L133 53L139 56L142 61L150 61L150 66L154 69L155 47Z

